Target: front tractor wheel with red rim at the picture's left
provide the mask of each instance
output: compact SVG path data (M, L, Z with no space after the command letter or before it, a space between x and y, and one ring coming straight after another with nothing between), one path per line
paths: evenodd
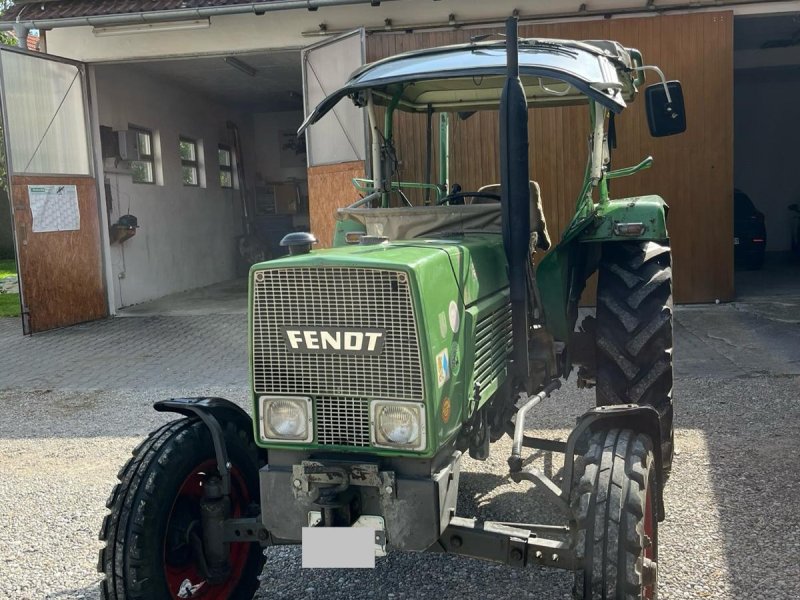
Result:
M258 502L258 454L252 433L224 424L231 463L230 516L245 517ZM103 600L250 600L258 589L264 555L258 544L231 543L229 574L203 576L200 501L208 477L217 475L208 428L196 419L172 421L133 451L118 474L103 520L98 570Z

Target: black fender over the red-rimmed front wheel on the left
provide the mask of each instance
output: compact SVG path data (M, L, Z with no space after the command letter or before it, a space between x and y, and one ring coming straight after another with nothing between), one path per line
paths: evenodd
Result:
M225 443L225 423L234 422L244 431L253 431L253 420L240 406L225 398L170 398L153 405L158 412L174 412L201 420L211 433L223 493L230 492L230 462ZM259 450L259 452L262 452Z

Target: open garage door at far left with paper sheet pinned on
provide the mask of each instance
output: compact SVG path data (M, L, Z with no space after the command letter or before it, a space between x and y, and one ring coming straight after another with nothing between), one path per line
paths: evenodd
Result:
M23 331L105 317L85 65L2 48L0 86Z

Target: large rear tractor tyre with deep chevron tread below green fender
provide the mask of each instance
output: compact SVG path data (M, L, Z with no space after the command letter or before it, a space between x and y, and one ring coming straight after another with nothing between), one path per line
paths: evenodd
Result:
M669 244L604 244L596 319L597 405L647 404L659 412L667 477L673 450Z

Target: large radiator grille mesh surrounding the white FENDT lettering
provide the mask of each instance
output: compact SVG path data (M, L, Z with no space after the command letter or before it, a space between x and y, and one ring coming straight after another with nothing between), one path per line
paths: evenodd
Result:
M287 351L283 328L382 329L380 355ZM342 267L258 271L253 281L253 384L257 394L423 399L408 277Z

